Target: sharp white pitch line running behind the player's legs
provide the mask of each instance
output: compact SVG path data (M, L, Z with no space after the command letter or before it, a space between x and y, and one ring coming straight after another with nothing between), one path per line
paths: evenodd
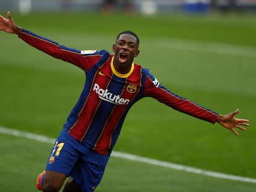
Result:
M19 136L22 138L28 138L30 140L40 141L40 142L49 143L49 144L53 144L55 141L54 138L49 138L47 136L38 135L35 133L29 133L26 131L14 130L14 129L5 128L5 127L0 127L0 133L6 134L6 135L12 135L12 136ZM209 177L223 178L223 179L228 179L228 180L236 180L239 182L256 183L255 178L239 177L236 175L228 175L228 174L224 174L224 173L211 172L208 170L197 169L197 168L189 167L189 166L185 166L185 165L173 164L171 162L164 162L164 161L159 161L156 159L150 159L147 157L135 156L134 154L129 154L126 152L113 151L111 156L122 158L122 159L127 159L130 161L137 161L137 162L143 162L145 164L166 167L169 169L181 170L181 171L189 172L189 173L196 173L199 175L207 175Z

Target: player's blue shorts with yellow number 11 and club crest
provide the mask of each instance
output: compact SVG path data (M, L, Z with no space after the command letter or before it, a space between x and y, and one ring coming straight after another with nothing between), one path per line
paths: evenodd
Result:
M94 191L101 182L109 155L105 156L88 148L66 131L56 140L46 170L60 172L74 178L83 192Z

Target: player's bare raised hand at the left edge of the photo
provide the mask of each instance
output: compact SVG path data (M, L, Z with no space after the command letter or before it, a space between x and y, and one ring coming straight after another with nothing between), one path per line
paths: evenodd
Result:
M0 15L0 30L20 35L22 28L15 24L9 11L7 12L7 17L8 19Z

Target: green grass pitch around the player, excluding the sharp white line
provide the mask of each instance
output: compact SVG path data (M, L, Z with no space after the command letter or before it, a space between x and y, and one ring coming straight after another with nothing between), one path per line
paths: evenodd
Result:
M2 15L6 13L2 12ZM140 37L135 59L169 90L251 127L239 136L151 98L127 115L115 151L256 178L255 15L12 15L38 35L77 49L108 49L117 33ZM56 138L79 98L82 70L0 33L0 127ZM0 191L36 191L51 144L1 135ZM97 191L255 191L255 183L211 178L112 157Z

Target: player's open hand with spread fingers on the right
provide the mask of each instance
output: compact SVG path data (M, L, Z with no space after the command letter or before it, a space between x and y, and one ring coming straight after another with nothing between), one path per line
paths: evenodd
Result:
M224 128L228 128L229 130L231 130L235 135L239 135L237 133L236 130L234 130L234 128L239 128L243 131L246 130L246 128L242 127L243 126L249 126L249 120L247 119L236 119L234 116L236 114L238 114L239 109L237 109L234 112L231 112L227 115L219 115L217 118L217 122L220 123L220 125L222 125Z

